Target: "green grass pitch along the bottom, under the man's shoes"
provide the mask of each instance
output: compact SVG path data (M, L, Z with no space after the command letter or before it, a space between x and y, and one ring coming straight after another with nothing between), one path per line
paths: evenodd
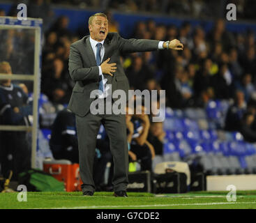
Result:
M18 192L0 193L0 209L256 209L256 191L237 191L236 201L227 201L227 192L149 194L128 192L128 198L112 192L27 192L27 201L17 201Z

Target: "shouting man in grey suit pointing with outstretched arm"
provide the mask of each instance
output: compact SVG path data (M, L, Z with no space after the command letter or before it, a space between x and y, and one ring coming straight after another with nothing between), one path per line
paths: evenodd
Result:
M95 99L90 98L91 91L100 90L98 99L103 100L105 108L106 98L117 89L125 91L128 98L129 84L121 65L121 53L164 48L182 50L183 45L179 40L126 40L118 33L108 33L107 16L103 13L96 13L89 18L89 31L89 36L84 36L70 46L68 63L70 77L75 81L68 109L76 116L82 192L84 196L92 196L95 191L93 158L98 129L100 123L103 123L110 138L110 151L114 161L114 196L128 197L126 116L113 113L92 114L90 106ZM112 91L108 84L111 84ZM115 100L116 98L112 98L112 102Z

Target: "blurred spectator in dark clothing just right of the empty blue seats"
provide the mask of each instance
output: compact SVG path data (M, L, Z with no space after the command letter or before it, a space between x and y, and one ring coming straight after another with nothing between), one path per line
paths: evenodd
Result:
M244 99L243 91L236 91L234 105L230 106L227 110L225 118L225 130L239 131L239 123L246 112L246 100Z

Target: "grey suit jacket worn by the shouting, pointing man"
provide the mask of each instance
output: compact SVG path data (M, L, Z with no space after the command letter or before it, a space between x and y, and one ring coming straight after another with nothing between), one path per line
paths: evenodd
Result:
M158 43L158 40L126 40L121 38L118 33L107 34L104 41L105 55L103 61L110 58L109 63L116 63L116 72L114 72L113 77L105 75L107 84L112 84L112 93L116 89L122 89L128 97L129 84L121 65L120 54L154 51L158 49ZM89 36L84 36L70 46L68 70L71 79L76 82L68 103L68 109L78 116L85 116L94 100L90 98L90 93L98 89L100 77Z

